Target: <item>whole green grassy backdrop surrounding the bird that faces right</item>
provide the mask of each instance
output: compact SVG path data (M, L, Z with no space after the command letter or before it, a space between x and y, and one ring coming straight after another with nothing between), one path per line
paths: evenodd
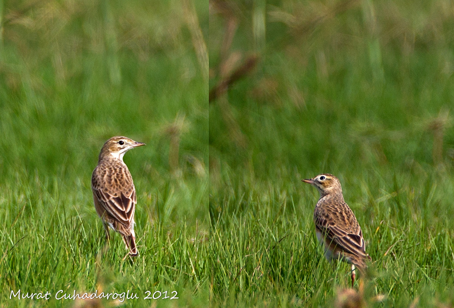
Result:
M206 303L207 36L203 1L0 2L0 306L78 304L10 300L19 289L177 290L126 303ZM114 135L147 144L125 156L134 264L120 237L104 247L93 207L91 172Z

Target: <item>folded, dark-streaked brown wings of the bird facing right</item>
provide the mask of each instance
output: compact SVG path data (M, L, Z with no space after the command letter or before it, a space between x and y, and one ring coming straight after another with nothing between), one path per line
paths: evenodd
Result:
M125 226L129 226L134 217L136 192L134 184L132 189L121 189L115 193L105 189L103 185L92 177L92 190L94 196L98 199L102 208L108 215Z

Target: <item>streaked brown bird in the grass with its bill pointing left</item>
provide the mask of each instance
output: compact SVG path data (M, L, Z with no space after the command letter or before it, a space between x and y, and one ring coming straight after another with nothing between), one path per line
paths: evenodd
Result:
M339 259L352 265L352 287L355 268L363 272L366 261L372 258L366 253L363 232L351 208L342 194L341 182L332 174L324 173L312 179L302 180L317 188L320 199L314 210L315 233L324 246L328 261Z

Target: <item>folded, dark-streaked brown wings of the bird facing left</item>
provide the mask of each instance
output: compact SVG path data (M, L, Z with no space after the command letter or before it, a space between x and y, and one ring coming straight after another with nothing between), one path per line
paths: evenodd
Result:
M315 227L326 238L345 252L361 258L370 258L366 254L366 243L355 215L350 208L344 211L344 219L332 219L334 215L315 215ZM339 216L335 216L339 217Z

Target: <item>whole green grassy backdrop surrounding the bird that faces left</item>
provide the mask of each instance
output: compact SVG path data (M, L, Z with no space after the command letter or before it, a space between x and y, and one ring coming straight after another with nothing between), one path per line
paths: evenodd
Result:
M360 304L452 306L452 2L213 0L208 49L212 305L343 306L300 182L332 173Z

